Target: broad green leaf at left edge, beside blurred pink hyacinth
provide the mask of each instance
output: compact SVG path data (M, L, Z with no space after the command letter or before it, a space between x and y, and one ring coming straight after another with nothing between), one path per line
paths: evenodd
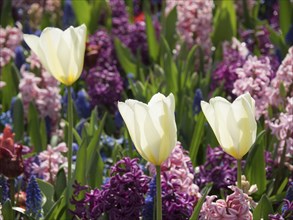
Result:
M10 108L12 98L18 93L19 78L11 62L2 68L1 81L6 84L1 89L2 111L5 112Z

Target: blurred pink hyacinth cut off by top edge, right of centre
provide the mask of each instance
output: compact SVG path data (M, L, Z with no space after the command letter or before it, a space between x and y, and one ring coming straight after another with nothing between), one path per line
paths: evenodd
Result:
M202 47L209 61L213 7L212 0L167 0L166 14L177 6L177 31L187 44Z

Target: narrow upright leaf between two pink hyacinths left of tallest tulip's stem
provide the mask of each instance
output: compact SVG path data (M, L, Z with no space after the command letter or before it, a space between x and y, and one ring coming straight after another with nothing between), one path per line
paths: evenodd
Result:
M41 152L43 149L40 134L40 123L37 108L33 103L30 103L29 105L28 130L31 138L31 144L34 146L35 152Z

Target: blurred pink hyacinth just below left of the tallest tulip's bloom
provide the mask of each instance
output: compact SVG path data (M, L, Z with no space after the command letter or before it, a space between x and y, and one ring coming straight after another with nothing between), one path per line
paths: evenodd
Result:
M61 110L58 81L42 68L36 55L32 54L27 61L30 62L30 69L36 69L40 74L36 75L26 70L25 65L21 67L22 79L19 83L19 90L22 95L25 114L27 115L29 104L32 102L36 105L40 116L42 118L49 117L53 127L55 127Z

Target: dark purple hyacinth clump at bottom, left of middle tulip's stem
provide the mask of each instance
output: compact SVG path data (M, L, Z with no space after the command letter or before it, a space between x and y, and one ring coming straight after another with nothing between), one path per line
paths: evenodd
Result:
M85 198L73 198L73 214L81 219L97 219L106 213L110 219L139 219L144 205L144 195L150 178L144 175L138 159L125 157L111 168L111 178L102 186L85 193ZM87 186L74 185L74 195L89 190Z

